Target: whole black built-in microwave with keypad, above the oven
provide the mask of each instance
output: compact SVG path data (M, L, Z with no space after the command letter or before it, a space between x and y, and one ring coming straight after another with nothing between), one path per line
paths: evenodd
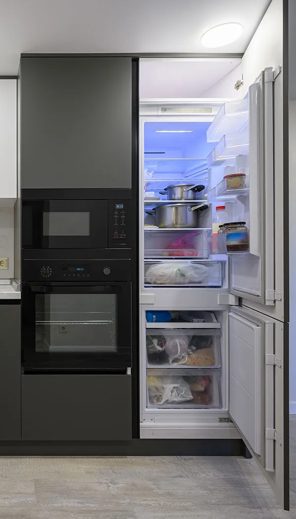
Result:
M23 257L40 249L96 250L92 257L100 257L102 250L133 248L135 202L129 189L22 189L21 198Z

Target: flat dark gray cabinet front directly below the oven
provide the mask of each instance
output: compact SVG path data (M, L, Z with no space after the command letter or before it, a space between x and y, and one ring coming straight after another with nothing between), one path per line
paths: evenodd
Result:
M131 440L130 375L22 375L22 440Z

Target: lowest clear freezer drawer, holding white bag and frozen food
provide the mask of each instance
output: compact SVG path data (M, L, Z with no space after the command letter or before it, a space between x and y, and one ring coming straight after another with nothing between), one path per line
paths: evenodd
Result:
M147 369L147 407L221 407L218 370Z

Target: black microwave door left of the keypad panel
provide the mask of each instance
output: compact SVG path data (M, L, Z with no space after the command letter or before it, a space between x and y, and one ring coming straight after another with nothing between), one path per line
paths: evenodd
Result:
M107 249L108 200L23 200L23 249Z

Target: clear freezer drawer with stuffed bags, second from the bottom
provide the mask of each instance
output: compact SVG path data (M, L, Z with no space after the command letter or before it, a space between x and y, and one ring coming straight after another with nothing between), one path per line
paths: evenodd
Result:
M219 368L220 330L146 329L147 367Z

